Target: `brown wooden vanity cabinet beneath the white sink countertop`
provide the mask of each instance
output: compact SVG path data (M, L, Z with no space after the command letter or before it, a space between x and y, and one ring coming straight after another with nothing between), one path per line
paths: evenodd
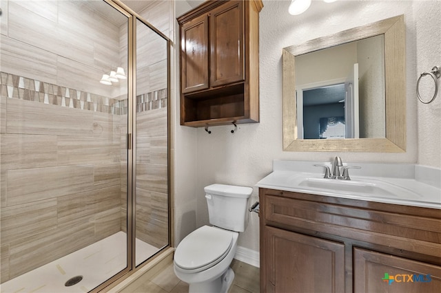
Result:
M440 210L267 188L259 197L260 292L441 292Z

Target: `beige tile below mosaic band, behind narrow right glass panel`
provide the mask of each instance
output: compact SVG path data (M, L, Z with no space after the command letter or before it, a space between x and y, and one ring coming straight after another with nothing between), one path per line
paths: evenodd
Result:
M136 118L136 238L168 244L167 108Z

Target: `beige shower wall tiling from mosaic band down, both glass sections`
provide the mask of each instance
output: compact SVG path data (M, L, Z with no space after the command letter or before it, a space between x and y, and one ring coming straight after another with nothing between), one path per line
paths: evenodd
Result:
M127 100L4 72L0 81L3 282L126 230ZM136 237L161 248L167 90L136 100Z

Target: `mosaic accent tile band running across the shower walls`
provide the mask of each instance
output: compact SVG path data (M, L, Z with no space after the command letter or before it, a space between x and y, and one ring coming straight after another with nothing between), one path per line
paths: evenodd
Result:
M0 81L0 94L8 98L113 115L127 114L127 99L107 98L6 72L0 72ZM136 96L136 112L138 113L164 107L167 107L167 89Z

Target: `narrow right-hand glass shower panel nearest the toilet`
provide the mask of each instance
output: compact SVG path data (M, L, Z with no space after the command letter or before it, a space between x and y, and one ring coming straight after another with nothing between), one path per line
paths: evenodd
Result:
M136 265L169 244L167 47L136 20Z

